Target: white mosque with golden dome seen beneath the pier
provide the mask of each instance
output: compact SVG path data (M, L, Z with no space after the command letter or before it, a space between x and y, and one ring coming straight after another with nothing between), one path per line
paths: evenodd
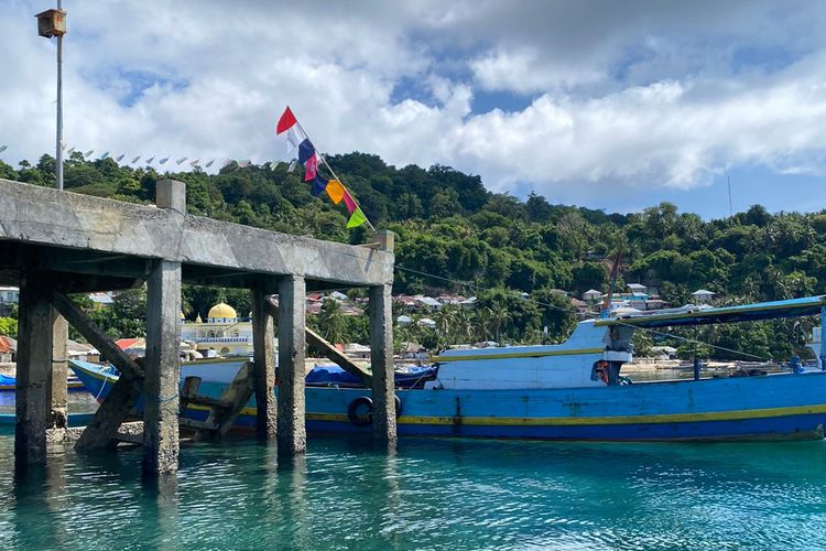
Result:
M194 322L184 321L181 338L194 343L195 349L207 358L252 355L252 322L249 317L240 320L236 310L224 302L209 309L206 322L200 314Z

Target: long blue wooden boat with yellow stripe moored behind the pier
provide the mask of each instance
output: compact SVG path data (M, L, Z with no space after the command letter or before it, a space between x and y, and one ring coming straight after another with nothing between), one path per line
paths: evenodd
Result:
M634 331L759 321L826 313L826 295L730 307L587 320L563 344L448 350L435 370L396 387L401 435L599 441L813 440L824 437L826 371L695 380L631 382ZM209 369L182 366L182 380L202 377L199 395L217 398L243 360ZM72 361L104 399L116 378L99 366ZM369 432L366 388L306 383L308 431ZM278 392L278 390L276 390ZM205 420L189 406L184 417ZM254 401L237 428L252 429Z

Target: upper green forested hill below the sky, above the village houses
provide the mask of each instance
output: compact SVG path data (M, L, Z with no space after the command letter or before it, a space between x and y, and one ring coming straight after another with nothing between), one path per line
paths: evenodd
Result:
M826 212L773 215L756 205L704 222L663 203L642 213L606 214L552 205L539 195L523 202L490 193L479 176L447 166L396 169L363 153L328 161L373 225L398 234L395 293L470 294L463 282L477 291L518 290L540 301L550 301L552 289L579 296L606 289L609 259L618 249L620 283L656 287L672 304L685 304L700 288L729 302L826 292ZM54 160L44 155L19 170L0 162L0 177L52 186ZM344 206L313 196L302 169L287 173L286 163L231 164L215 175L159 174L74 153L65 166L66 190L130 202L151 203L161 177L186 183L195 215L338 241L367 238L363 226L346 229ZM515 321L511 325L514 336L525 329Z

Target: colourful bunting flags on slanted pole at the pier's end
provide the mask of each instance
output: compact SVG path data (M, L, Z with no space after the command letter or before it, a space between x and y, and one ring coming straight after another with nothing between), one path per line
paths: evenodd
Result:
M283 133L286 133L287 154L293 156L293 162L290 164L289 171L295 168L296 162L304 165L304 181L313 182L313 195L317 197L322 193L327 193L327 197L329 197L334 205L338 205L339 203L345 204L347 212L350 214L350 218L347 220L348 228L357 228L362 224L367 224L370 229L374 230L376 228L367 219L367 216L358 203L356 203L352 194L341 183L341 180L336 175L324 155L309 141L309 137L304 131L298 119L293 115L290 106L284 109L284 112L275 125L275 134L281 136ZM322 174L319 163L330 173L332 177L326 177Z

